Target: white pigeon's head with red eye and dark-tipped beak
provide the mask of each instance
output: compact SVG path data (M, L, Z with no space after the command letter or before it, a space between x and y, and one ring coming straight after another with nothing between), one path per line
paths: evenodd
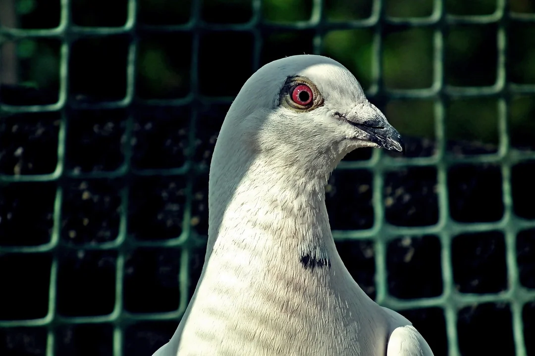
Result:
M256 154L327 174L359 147L403 151L400 134L366 99L356 78L322 56L286 57L260 68L243 85L223 126Z

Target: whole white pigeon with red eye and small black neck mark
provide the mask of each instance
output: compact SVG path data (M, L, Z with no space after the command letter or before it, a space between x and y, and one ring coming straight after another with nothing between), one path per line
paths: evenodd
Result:
M287 57L247 80L213 152L201 278L154 355L433 355L410 321L366 296L335 248L325 185L359 147L403 149L337 61Z

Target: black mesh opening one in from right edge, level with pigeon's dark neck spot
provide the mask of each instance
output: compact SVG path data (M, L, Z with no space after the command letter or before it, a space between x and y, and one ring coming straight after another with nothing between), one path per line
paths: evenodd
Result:
M506 247L498 231L461 234L452 241L453 280L461 293L507 289Z

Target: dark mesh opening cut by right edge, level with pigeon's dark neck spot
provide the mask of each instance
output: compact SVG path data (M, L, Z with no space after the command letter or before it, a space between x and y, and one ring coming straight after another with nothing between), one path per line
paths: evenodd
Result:
M516 263L520 284L535 289L535 229L521 231L516 236Z

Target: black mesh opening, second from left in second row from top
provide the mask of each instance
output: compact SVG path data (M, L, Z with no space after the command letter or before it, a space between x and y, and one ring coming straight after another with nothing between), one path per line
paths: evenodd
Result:
M74 42L68 68L74 99L88 103L124 99L128 46L127 36L90 37Z

